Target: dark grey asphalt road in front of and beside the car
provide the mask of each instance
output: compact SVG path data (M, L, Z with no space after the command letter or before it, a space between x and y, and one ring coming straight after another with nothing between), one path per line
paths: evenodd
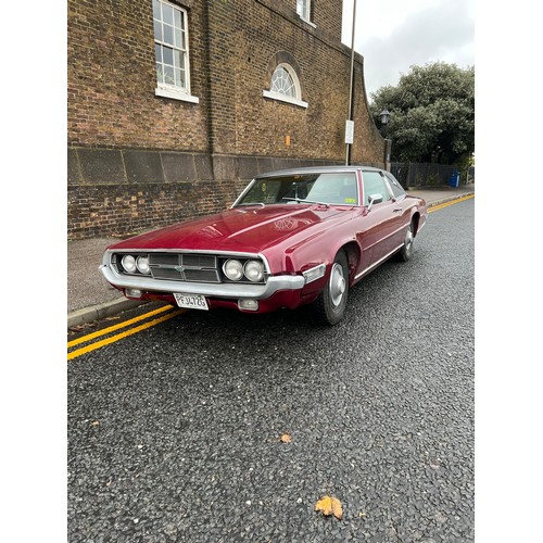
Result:
M468 200L336 327L190 312L70 362L68 541L473 541L473 252Z

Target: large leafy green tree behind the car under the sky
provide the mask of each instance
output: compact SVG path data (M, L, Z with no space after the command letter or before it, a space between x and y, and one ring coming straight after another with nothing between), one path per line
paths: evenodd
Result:
M459 164L475 146L475 67L435 62L411 66L397 87L371 94L370 111L381 126L380 112L390 112L387 137L396 162ZM382 132L382 127L381 127Z

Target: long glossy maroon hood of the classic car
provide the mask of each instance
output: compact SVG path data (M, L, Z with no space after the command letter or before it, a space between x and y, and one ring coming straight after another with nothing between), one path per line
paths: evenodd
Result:
M352 207L272 205L236 207L195 218L111 245L110 250L175 250L263 252L288 238L314 235ZM324 225L326 223L326 226ZM294 241L294 240L292 240ZM295 241L294 241L295 242Z

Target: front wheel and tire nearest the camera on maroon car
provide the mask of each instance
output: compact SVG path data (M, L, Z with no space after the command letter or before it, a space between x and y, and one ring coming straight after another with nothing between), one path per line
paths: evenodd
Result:
M345 313L349 296L349 265L344 251L340 251L330 269L326 287L314 302L314 317L323 325L336 325Z

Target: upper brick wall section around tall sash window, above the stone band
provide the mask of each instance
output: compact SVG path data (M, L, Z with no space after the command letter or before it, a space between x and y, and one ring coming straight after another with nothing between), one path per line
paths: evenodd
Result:
M68 0L71 144L207 150L203 4L179 2L190 18L192 104L154 94L152 0Z

